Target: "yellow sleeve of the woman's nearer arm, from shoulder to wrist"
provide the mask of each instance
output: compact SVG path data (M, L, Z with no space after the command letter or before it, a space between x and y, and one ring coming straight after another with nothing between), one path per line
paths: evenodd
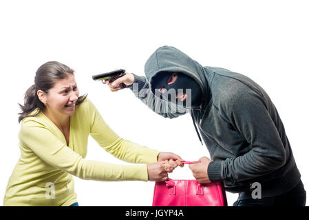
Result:
M118 165L83 159L46 126L33 120L21 125L21 144L44 162L81 179L99 181L148 180L146 165Z

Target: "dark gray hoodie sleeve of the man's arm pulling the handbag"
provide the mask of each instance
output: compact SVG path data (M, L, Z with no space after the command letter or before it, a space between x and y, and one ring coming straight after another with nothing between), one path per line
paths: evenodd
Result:
M226 106L228 119L251 149L238 157L211 162L208 168L211 181L245 181L271 173L286 163L284 144L266 101L252 90L237 97L226 102L230 104Z

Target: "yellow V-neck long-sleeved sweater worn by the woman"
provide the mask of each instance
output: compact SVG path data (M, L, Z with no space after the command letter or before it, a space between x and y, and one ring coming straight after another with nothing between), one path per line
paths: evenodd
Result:
M70 142L44 113L24 118L19 132L21 156L8 181L4 206L70 206L76 202L74 179L147 181L147 165L118 165L84 159L88 136L126 162L157 162L159 151L123 140L86 98L70 116Z

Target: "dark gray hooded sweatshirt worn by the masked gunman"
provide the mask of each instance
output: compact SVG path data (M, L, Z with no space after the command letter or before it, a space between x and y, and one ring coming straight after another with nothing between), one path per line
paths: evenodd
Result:
M152 78L162 71L193 77L203 91L200 107L184 109L154 96ZM227 191L240 192L240 199L251 197L253 182L261 184L262 197L281 195L297 185L300 173L284 124L266 91L253 80L227 69L202 67L168 46L150 56L145 76L135 76L130 87L135 96L165 118L191 114L213 160L208 167L211 181L224 181Z

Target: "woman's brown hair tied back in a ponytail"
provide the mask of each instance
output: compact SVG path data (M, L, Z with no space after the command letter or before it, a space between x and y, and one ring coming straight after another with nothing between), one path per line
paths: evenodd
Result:
M37 91L42 90L48 93L48 90L54 87L57 80L67 78L68 74L74 75L74 70L57 61L50 61L41 65L36 71L34 85L25 91L24 104L19 104L19 107L21 107L19 123L23 118L38 115L45 109L45 105L39 100ZM81 104L85 98L87 98L87 94L79 96L76 104ZM37 111L30 115L35 109Z

